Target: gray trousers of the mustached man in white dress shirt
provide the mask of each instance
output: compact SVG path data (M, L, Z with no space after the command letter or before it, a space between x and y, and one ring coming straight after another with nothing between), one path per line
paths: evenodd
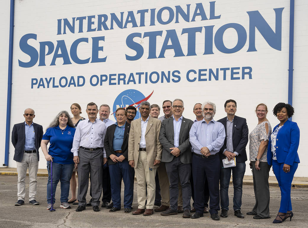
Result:
M86 206L86 195L89 187L89 174L91 170L92 206L99 206L103 187L103 151L88 151L79 148L78 152L78 201L79 206Z

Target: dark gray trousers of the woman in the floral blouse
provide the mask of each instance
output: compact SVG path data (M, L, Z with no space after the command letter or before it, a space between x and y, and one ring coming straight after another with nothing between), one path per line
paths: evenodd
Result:
M267 162L260 162L260 170L255 167L256 162L251 162L253 166L253 190L256 198L256 204L253 207L253 212L262 218L270 216L270 187L269 187L269 172L270 165Z

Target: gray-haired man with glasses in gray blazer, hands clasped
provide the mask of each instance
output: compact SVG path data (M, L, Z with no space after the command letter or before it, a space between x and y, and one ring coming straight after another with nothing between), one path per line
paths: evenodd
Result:
M162 162L165 163L170 183L170 208L160 213L161 215L177 214L178 179L182 186L183 218L190 218L190 173L191 173L191 146L189 131L193 125L192 120L182 116L184 102L181 99L173 101L173 116L163 120L160 128L160 144L163 146Z

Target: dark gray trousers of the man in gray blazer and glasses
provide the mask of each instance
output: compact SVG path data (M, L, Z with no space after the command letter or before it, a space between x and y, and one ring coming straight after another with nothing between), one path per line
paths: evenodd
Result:
M174 156L171 162L165 163L165 166L170 182L170 208L174 211L177 210L179 194L178 182L180 180L182 186L183 209L190 210L190 199L192 197L192 190L189 182L191 165L182 163L180 156Z

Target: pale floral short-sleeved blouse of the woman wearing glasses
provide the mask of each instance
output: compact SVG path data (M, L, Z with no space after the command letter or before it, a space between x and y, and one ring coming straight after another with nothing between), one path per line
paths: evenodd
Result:
M268 124L269 131L266 134L265 124ZM270 134L272 132L272 127L269 121L264 121L261 124L258 124L257 127L253 129L249 134L249 160L256 161L258 155L260 143L262 140L267 141L270 139ZM261 162L267 162L267 147L261 157Z

